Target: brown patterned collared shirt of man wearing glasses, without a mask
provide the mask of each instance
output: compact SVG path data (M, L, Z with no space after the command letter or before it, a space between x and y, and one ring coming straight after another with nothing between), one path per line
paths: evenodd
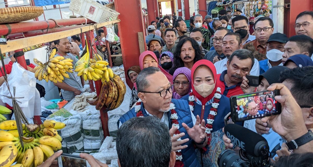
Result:
M250 50L253 53L254 58L258 61L266 59L266 48L264 48L256 39L245 44L243 49Z

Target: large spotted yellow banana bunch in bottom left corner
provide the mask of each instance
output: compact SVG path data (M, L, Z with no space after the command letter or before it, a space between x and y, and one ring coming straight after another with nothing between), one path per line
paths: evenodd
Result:
M17 166L32 167L38 166L49 158L54 151L62 148L62 138L56 129L62 129L66 125L54 120L46 120L42 125L22 124L24 146L22 147L18 138L17 125L15 120L0 123L0 166L10 166L17 162ZM6 154L2 154L2 152ZM11 155L9 157L2 155Z

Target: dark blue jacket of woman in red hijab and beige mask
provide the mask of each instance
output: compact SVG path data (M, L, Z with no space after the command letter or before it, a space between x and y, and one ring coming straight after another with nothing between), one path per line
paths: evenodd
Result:
M182 97L181 99L188 101L188 97L189 97L189 94L187 94L186 96ZM198 104L197 102L194 102L194 103L195 103L195 106L193 107L193 115L195 115L195 116L199 115L199 117L201 119L202 106L200 104ZM208 118L208 115L210 113L210 109L211 108L212 108L212 104L206 105L204 107L204 114L203 114L203 118L202 119L205 120L205 124L207 124L207 118ZM230 101L229 101L229 98L224 96L224 95L222 95L222 97L220 98L220 101L219 101L218 108L217 108L217 114L216 114L216 116L214 118L212 132L215 132L218 129L223 128L225 126L224 117L228 114L228 112L230 112Z

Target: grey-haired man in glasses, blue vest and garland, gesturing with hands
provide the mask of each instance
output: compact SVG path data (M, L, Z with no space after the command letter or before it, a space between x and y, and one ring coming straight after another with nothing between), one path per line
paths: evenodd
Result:
M208 143L204 119L200 121L198 115L193 115L187 101L172 99L173 85L159 68L143 69L136 85L141 102L119 119L119 127L133 117L158 117L169 129L172 151L176 152L175 166L200 167L195 149Z

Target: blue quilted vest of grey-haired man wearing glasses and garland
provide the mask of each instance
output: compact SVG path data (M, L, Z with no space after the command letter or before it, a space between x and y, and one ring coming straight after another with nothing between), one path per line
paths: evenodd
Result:
M175 105L175 111L177 112L178 116L178 123L179 123L179 131L181 133L185 133L185 136L182 137L182 140L185 138L189 138L189 141L183 145L188 145L186 149L182 149L182 163L184 166L188 167L200 167L199 161L197 160L197 154L196 150L193 144L193 140L189 137L186 129L182 127L182 123L186 123L188 127L193 127L192 117L190 113L190 108L188 105L188 102L185 100L178 100L178 99L172 99L172 103ZM148 116L146 110L144 109L143 103L141 103L141 109L144 117ZM172 120L171 120L171 112L167 112L168 115L168 128L172 128ZM127 120L131 119L132 117L136 117L135 107L131 109L130 111L126 112L119 121L117 122L117 125L121 123L126 122Z

